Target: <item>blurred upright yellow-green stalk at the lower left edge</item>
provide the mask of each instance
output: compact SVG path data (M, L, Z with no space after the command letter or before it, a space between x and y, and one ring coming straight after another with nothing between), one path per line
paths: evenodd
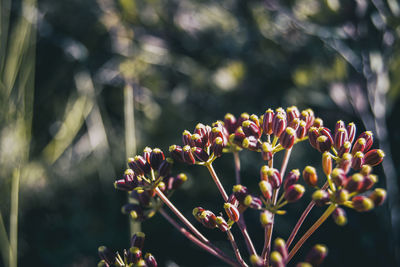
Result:
M10 208L10 267L17 267L18 251L18 194L19 194L20 169L13 174L11 184L11 208Z

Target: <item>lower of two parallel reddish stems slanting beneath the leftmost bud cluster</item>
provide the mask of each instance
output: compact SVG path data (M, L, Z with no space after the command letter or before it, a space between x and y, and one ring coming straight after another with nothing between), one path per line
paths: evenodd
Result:
M207 244L204 244L201 242L199 239L197 239L194 235L192 235L190 232L188 232L185 228L180 226L174 219L172 219L168 213L166 213L162 208L159 209L161 215L170 223L172 224L179 232L181 232L187 239L192 241L194 244L196 244L198 247L204 249L208 253L220 258L227 264L231 266L239 266L233 259L229 258L226 256L222 251L217 252L214 248L208 246Z

